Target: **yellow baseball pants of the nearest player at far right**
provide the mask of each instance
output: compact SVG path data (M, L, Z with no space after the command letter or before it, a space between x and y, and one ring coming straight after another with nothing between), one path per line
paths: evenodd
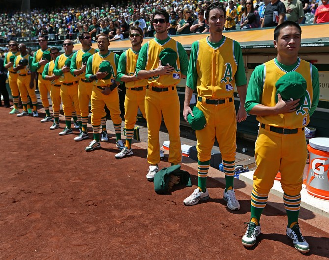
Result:
M257 193L268 194L276 174L280 171L280 182L284 193L299 194L307 159L304 131L283 135L260 127L255 146L255 159L257 168L253 175L253 188Z

